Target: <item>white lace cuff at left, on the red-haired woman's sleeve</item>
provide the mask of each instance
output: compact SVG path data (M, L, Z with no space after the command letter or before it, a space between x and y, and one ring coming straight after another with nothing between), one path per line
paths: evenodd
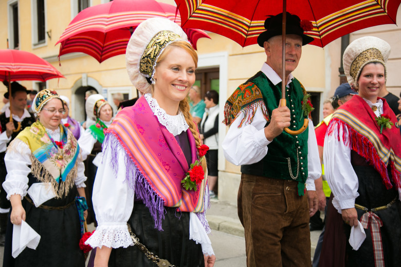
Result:
M133 245L126 224L99 224L95 233L86 240L85 244L92 247L128 247Z

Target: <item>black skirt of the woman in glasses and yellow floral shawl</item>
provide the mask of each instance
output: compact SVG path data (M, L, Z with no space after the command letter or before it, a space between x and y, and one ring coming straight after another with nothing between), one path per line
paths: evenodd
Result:
M66 197L50 199L43 205L51 207L63 207L64 209L44 209L35 207L25 198L22 206L26 212L26 222L40 236L40 242L36 250L26 249L15 259L11 256L12 224L8 220L6 247L3 266L18 267L43 267L43 266L85 266L84 255L79 249L81 239L81 225L75 204L77 188L69 190ZM10 212L11 214L11 212Z

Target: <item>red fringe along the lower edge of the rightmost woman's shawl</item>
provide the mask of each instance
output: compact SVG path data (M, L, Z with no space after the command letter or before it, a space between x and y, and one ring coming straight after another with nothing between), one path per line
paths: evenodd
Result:
M378 171L386 188L387 189L392 188L393 185L391 184L388 175L386 163L381 160L381 158L377 154L376 148L367 137L361 135L354 128L349 126L347 123L339 120L338 118L333 118L330 121L329 127L327 127L326 135L331 136L334 134L335 137L338 140L340 140L338 125L341 125L343 129L347 129L349 132L348 136L346 136L345 130L342 131L341 138L344 142L344 145L356 151L358 155L366 159L368 163L372 165L376 171ZM393 183L397 188L401 188L401 183L400 183L401 173L395 168L393 161L389 160L389 166L391 169Z

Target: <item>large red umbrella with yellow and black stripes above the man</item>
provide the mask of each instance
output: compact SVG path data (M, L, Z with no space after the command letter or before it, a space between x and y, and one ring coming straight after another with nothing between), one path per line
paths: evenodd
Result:
M257 43L268 15L283 12L281 1L273 0L175 0L183 28L208 30L228 37L241 46ZM313 23L305 34L312 45L323 47L356 30L395 24L401 0L287 0L287 11Z

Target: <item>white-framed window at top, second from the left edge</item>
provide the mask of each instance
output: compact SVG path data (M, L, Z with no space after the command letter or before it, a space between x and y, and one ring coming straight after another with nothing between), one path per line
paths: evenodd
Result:
M46 43L46 1L32 0L32 43Z

